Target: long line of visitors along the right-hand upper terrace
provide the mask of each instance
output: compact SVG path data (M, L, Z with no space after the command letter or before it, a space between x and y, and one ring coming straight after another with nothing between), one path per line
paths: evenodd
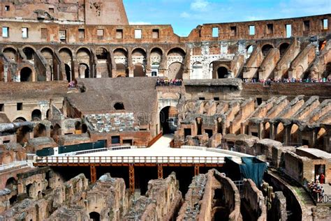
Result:
M328 79L326 77L323 78L307 78L307 79L302 79L302 78L284 78L284 79L256 79L256 78L251 78L251 79L244 79L245 83L263 83L263 84L268 84L270 85L271 83L295 83L295 82L304 82L304 83L325 83L325 82L331 82L331 79Z

